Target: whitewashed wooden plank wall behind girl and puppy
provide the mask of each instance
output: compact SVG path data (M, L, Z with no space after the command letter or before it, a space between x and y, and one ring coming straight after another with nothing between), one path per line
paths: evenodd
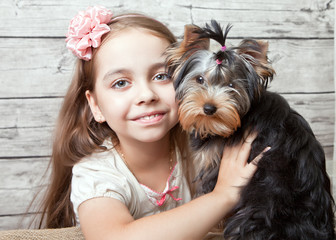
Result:
M25 228L23 213L40 188L52 131L74 58L65 48L69 20L90 5L141 12L177 35L184 24L215 18L233 24L228 43L266 39L280 92L311 124L336 181L333 159L334 0L1 0L0 230ZM335 189L335 184L334 184ZM335 191L334 191L335 192Z

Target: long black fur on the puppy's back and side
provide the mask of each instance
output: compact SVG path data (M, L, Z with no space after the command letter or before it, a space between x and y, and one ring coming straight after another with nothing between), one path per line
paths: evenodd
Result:
M250 161L267 146L272 148L242 188L239 203L225 220L224 238L334 239L334 202L324 151L306 120L283 97L265 91L226 144L239 142L249 130L258 133Z

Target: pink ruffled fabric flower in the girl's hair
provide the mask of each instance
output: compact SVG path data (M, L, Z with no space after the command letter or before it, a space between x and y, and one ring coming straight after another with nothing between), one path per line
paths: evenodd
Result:
M78 58L89 61L92 48L101 44L101 37L111 29L107 25L113 14L101 6L88 7L80 11L71 21L66 34L67 48Z

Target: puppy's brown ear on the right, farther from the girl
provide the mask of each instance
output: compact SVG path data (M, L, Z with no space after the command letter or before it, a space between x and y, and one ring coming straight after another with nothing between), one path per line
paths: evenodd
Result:
M274 69L267 57L268 42L262 40L243 40L238 48L238 54L251 63L256 73L267 85L273 79Z

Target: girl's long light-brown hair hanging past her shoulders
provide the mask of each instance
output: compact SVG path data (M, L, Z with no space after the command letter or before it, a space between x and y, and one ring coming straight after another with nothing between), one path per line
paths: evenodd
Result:
M102 44L117 31L127 28L143 28L155 36L176 42L174 35L162 23L140 14L120 15L111 20L111 31L107 33ZM39 228L60 228L75 226L75 214L70 201L72 167L83 157L95 151L104 151L101 145L106 138L116 137L106 123L97 123L90 111L85 91L94 91L94 56L90 61L77 60L75 74L64 97L54 133L52 156L50 161L51 182L41 207L42 216ZM188 141L186 134L177 125L172 129L174 141L177 143L184 159L188 157ZM187 162L187 161L184 161ZM188 167L186 174L191 176Z

